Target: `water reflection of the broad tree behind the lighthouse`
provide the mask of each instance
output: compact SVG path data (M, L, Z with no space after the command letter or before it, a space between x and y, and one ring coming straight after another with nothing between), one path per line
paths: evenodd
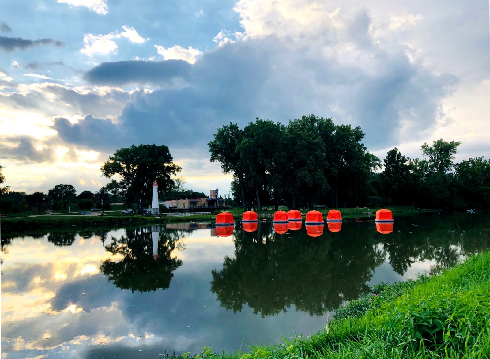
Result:
M157 255L154 255L152 233L158 233ZM120 261L106 259L100 270L109 281L123 289L147 292L167 289L173 271L182 265L182 260L172 258L172 251L181 248L178 231L167 232L160 226L126 229L125 235L112 237L106 251L122 255Z

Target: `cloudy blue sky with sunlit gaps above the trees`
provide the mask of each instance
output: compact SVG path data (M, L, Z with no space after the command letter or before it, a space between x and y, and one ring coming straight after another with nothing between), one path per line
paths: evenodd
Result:
M227 193L216 129L304 114L368 150L490 155L489 2L4 0L0 164L13 190L79 192L132 144L167 145L185 187Z

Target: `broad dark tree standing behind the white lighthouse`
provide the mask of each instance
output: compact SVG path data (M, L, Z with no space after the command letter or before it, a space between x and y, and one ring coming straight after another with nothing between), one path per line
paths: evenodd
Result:
M114 155L104 162L100 170L102 175L112 178L119 175L117 181L120 188L126 192L126 197L139 199L138 211L141 213L145 206L145 199L151 198L153 181L158 182L160 195L172 188L172 176L181 171L181 168L172 162L173 157L167 146L132 145L129 148L117 150Z

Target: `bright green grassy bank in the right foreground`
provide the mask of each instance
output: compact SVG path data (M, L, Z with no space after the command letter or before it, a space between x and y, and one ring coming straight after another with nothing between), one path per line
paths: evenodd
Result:
M417 281L382 284L340 308L319 333L246 354L173 358L489 358L490 252Z

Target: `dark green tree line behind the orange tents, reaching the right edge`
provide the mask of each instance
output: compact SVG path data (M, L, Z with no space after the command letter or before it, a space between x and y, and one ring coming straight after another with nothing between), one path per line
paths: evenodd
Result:
M230 123L218 128L208 146L211 161L233 175L234 199L245 210L490 206L490 163L483 156L454 163L460 142L424 143L422 159L394 148L382 163L369 153L364 137L360 127L309 115L288 125L259 118L245 128Z

